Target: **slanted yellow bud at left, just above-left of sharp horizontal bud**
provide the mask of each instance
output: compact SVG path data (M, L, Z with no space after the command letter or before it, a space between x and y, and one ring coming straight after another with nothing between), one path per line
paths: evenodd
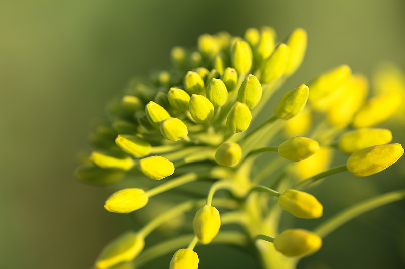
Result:
M136 158L149 155L152 147L149 142L135 135L118 135L115 143L125 153Z

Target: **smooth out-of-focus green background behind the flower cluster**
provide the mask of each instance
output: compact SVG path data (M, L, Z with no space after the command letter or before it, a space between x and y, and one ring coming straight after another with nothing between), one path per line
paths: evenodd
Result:
M404 12L403 0L1 0L0 268L89 268L108 241L131 227L129 217L103 209L112 189L81 184L73 170L107 101L133 75L165 69L171 47L195 46L206 32L242 35L264 25L284 40L303 27L308 51L290 89L343 63L366 75L381 59L405 68ZM405 143L403 130L394 126L394 142ZM402 158L368 178L336 176L313 193L328 217L405 187L404 167ZM405 267L404 205L350 222L299 267ZM199 249L202 269L253 266L240 250Z

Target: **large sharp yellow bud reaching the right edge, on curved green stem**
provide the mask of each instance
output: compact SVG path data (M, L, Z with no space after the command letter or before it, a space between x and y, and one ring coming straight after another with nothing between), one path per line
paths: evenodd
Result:
M383 171L403 155L400 144L371 146L353 152L347 160L347 170L357 177L366 177Z

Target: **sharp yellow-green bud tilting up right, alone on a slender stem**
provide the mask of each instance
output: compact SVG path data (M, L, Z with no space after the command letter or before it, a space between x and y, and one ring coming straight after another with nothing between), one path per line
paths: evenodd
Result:
M288 91L284 94L275 108L275 116L278 119L288 120L297 116L304 110L309 96L309 88L305 84Z

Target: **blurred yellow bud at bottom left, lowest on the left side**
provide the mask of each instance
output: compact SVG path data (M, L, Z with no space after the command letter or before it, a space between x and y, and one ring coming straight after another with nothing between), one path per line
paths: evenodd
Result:
M94 266L108 269L114 265L133 260L143 250L144 239L133 231L125 232L104 247Z

